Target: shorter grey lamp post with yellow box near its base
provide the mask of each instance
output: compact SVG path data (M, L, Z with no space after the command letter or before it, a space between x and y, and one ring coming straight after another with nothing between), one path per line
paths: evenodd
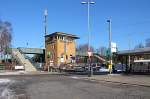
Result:
M111 31L111 19L107 20L109 24L109 72L112 73L112 52L111 52L111 42L112 42L112 31Z

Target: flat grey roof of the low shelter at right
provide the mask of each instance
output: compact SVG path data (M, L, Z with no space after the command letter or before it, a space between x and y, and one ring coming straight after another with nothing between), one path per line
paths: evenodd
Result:
M143 53L150 53L150 47L119 51L117 54L127 55L127 54L143 54Z

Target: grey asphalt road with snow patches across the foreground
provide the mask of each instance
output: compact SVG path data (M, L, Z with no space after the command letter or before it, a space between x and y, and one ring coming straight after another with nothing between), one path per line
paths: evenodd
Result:
M63 75L0 76L0 99L150 99L150 88Z

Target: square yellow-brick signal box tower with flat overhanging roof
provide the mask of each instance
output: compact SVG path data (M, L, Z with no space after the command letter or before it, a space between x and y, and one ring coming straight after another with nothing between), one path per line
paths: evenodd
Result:
M60 64L74 63L76 35L55 32L45 36L45 61L47 66L57 68Z

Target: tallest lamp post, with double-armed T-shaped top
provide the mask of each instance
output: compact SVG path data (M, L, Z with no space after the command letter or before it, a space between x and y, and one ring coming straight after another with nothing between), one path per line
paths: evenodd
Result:
M92 67L90 65L91 63L91 48L90 48L90 43L91 43L91 29L90 29L90 5L95 4L95 2L92 2L88 0L87 2L81 2L81 4L87 4L87 28L88 28L88 56L89 56L89 73L88 76L91 77L92 75Z

